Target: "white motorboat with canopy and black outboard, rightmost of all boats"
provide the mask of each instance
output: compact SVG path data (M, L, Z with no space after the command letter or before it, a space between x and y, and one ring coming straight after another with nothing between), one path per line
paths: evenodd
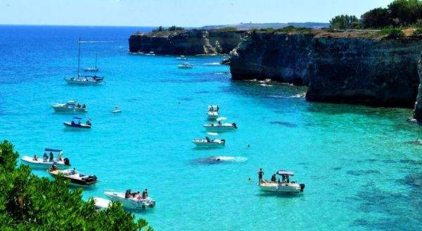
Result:
M277 175L282 177L282 180L279 181L268 181L262 180L258 185L260 189L264 192L292 192L292 193L299 193L303 192L305 188L305 184L298 184L295 181L290 182L290 176L294 176L295 173L292 171L280 170L277 171Z

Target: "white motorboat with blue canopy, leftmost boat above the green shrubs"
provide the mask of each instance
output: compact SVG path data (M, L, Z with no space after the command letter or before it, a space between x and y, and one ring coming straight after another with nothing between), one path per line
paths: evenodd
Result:
M47 154L47 152L50 152ZM54 157L54 154L57 154L57 157ZM32 169L43 168L48 169L53 164L55 164L60 169L65 169L70 166L70 161L68 158L63 159L63 152L60 149L46 148L44 149L43 157L37 157L34 154L34 157L23 156L20 160L23 164L29 165Z

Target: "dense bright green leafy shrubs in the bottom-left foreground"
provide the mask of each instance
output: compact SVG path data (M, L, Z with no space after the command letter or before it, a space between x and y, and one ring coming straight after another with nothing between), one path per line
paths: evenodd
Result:
M68 180L39 178L28 166L16 167L13 145L0 143L0 230L141 230L120 203L97 211L82 200L82 190L68 190ZM152 230L146 227L146 230Z

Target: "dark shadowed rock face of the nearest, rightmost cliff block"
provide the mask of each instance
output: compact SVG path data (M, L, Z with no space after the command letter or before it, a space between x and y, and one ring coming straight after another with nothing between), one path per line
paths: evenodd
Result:
M321 37L309 62L309 101L412 107L420 39Z

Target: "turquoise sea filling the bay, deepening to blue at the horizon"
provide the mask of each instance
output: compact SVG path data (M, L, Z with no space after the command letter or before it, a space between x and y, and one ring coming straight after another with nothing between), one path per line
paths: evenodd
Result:
M304 87L231 81L222 56L188 57L195 68L180 70L174 56L129 54L129 35L149 29L1 26L0 138L20 156L63 148L99 178L86 199L147 187L157 204L135 214L155 230L421 230L422 145L407 142L422 127L406 122L411 110L309 103L296 97ZM98 41L82 44L81 62L98 53L106 84L63 81L79 37ZM65 130L74 115L50 107L72 99L87 104L90 131ZM239 128L219 135L226 147L197 150L210 103ZM259 168L266 178L295 171L305 192L263 194Z

